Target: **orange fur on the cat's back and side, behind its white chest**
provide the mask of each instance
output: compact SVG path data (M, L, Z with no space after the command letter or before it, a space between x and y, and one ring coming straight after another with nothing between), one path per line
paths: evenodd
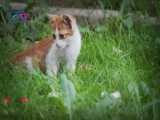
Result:
M45 57L53 42L53 37L44 38L38 43L35 43L31 48L28 48L23 52L17 53L11 60L11 62L19 63L23 62L26 57L31 57L33 66L39 67L43 72L45 72Z

